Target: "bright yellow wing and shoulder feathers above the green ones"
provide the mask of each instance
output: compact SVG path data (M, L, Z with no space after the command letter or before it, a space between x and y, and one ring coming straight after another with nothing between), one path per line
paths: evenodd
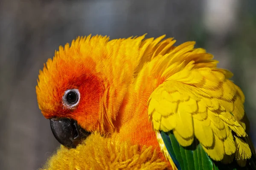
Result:
M241 122L244 94L228 79L232 73L217 68L218 61L194 45L168 46L168 53L156 56L155 52L142 68L155 79L148 100L149 119L156 131L173 130L182 146L189 146L196 137L213 160L231 162L235 156L243 166L251 157Z

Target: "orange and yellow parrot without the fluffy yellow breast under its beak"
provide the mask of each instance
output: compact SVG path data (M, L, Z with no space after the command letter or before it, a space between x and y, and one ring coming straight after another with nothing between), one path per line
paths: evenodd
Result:
M39 71L38 106L65 154L118 138L170 170L256 170L233 74L194 41L145 36L77 37Z

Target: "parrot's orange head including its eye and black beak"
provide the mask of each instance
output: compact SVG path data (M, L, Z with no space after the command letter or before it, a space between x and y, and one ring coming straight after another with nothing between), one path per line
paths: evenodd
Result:
M112 82L118 75L113 76L108 68L113 66L108 40L102 36L79 37L71 45L60 46L39 71L39 108L50 119L55 138L67 147L76 147L92 132L114 130L117 114L113 113L118 111L126 87L119 87L118 94L111 92L117 89L118 83Z

